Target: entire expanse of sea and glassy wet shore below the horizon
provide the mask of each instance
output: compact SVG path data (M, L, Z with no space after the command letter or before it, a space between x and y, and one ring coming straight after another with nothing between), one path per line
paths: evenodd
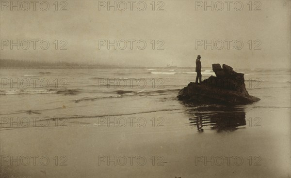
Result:
M32 170L7 164L6 170L37 177L290 176L291 71L234 70L244 73L246 89L259 102L224 106L178 101L178 91L195 80L194 68L1 70L1 155L55 155L62 150L69 163L62 170L46 167L46 174L41 166ZM211 75L204 68L202 80ZM137 124L129 117L143 119ZM32 118L50 122L33 125ZM116 118L127 122L109 121ZM15 142L20 146L14 147ZM102 147L93 149L93 143ZM162 155L165 161L162 168L125 171L88 161L99 153ZM197 156L226 155L240 155L245 162L258 156L260 166L195 165Z

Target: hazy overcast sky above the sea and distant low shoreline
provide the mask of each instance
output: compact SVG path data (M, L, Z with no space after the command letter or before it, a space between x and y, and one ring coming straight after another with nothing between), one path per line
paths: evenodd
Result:
M30 4L28 11L27 4L19 4L19 11L13 7L11 11L10 1L1 0L0 11L0 38L1 38L1 59L32 59L39 61L67 61L85 62L87 64L113 64L113 65L133 65L133 66L156 66L164 67L167 63L178 67L194 66L197 55L202 56L202 66L210 67L212 63L226 63L234 68L290 68L291 62L291 37L290 37L290 1L283 0L261 0L252 7L247 4L249 1L242 1L243 8L240 10L240 3L234 7L234 2L230 3L229 11L225 1L224 9L221 3L213 1L213 11L208 7L205 11L204 1L192 0L164 0L155 1L155 11L152 10L152 0L144 1L146 9L141 11L143 3L133 3L130 11L130 3L127 2L125 11L118 10L124 8L124 4L117 5L116 11L111 7L107 11L107 6L101 7L103 2L97 0L69 0L67 4L58 2L58 11L55 11L55 1L47 1L49 9L40 9L40 3L36 4L33 11L33 4ZM28 1L30 2L30 1ZM41 1L39 1L41 2ZM117 4L119 1L116 1ZM216 2L216 5L215 5ZM15 2L16 3L16 2ZM21 3L21 1L19 1ZM114 1L112 0L113 4ZM210 4L211 1L208 1ZM8 6L8 7L6 7ZM61 7L64 10L60 11ZM160 10L157 11L158 7ZM256 10L260 11L254 11ZM46 4L42 4L46 9ZM195 9L196 8L196 9ZM251 8L251 11L250 11ZM36 42L36 49L33 49L33 42L30 48L17 50L17 46L10 49L10 40L16 43L23 40L47 40L49 49L40 48ZM55 49L54 41L58 40L58 50ZM67 50L60 50L65 44L60 43L65 40ZM107 44L99 46L98 40L120 41L120 48L124 47L122 40L127 41L125 50L121 50ZM135 40L130 49L130 41ZM137 41L144 40L146 47L141 50L137 47ZM153 40L155 40L154 50ZM158 40L159 41L158 43ZM199 41L200 40L200 41ZM213 40L213 50L211 46L205 46L201 42L211 43ZM227 42L230 47L227 49ZM242 49L235 49L234 41L241 40ZM252 40L251 50L250 40ZM255 41L257 40L257 41ZM223 49L221 41L224 42ZM104 42L104 41L102 41ZM237 47L240 47L240 41ZM256 43L255 43L256 42ZM26 47L25 42L22 47ZM157 50L161 45L163 50ZM196 44L196 45L195 45ZM216 44L216 45L215 45ZM257 46L259 45L259 46ZM43 44L46 47L46 44ZM257 47L256 47L257 46ZM143 47L141 42L140 48ZM216 48L215 48L216 47ZM261 48L260 50L255 50Z

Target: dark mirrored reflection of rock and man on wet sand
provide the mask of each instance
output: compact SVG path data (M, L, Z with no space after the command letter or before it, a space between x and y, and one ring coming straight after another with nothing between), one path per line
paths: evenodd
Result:
M197 126L198 131L203 127L220 131L234 131L239 126L246 125L243 108L227 106L203 106L196 108L194 117L190 118L190 125Z

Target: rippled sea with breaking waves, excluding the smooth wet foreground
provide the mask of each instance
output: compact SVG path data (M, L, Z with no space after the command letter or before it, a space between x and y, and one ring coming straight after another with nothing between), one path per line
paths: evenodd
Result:
M242 108L290 108L290 70L237 72L245 74L249 94L261 99ZM210 69L202 72L203 79L210 75L215 76ZM69 118L183 110L176 96L195 76L191 68L1 70L1 115L34 111ZM128 107L126 101L139 104Z

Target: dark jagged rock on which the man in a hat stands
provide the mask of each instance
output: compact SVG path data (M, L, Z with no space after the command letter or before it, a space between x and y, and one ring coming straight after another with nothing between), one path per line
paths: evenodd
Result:
M202 84L190 82L187 87L181 89L179 100L196 103L220 103L220 104L249 104L260 99L248 94L244 84L244 74L236 73L232 67L226 64L212 64L212 70L216 76L210 76L203 80Z

